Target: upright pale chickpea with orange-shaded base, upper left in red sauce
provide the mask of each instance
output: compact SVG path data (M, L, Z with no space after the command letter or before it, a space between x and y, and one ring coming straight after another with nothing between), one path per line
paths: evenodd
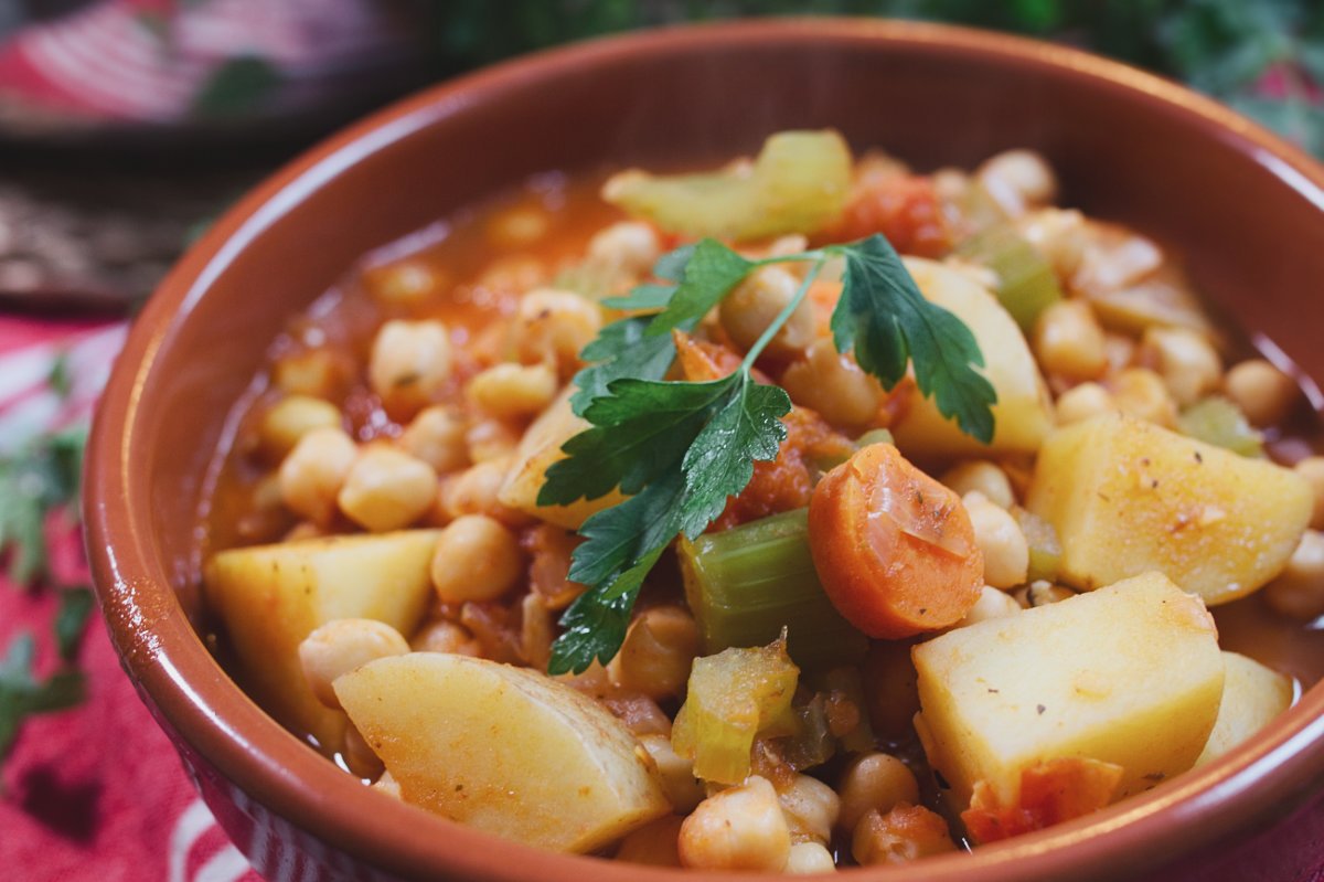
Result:
M441 322L387 322L372 342L368 383L388 412L412 416L446 388L453 360Z

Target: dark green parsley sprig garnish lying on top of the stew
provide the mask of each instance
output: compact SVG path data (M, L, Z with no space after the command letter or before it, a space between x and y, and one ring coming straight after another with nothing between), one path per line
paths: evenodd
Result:
M970 330L920 294L882 236L849 245L749 260L706 238L665 254L654 266L662 283L642 285L608 306L637 311L602 328L575 377L575 412L591 428L564 446L547 470L539 505L596 499L620 487L628 497L584 522L569 579L588 589L561 618L552 674L580 673L609 661L625 640L643 579L679 535L696 538L753 477L756 461L776 458L790 396L759 383L752 368L833 258L845 261L842 294L831 317L842 354L892 388L912 366L915 381L943 416L965 433L993 437L997 396L976 369L984 356ZM674 331L692 331L745 277L769 264L808 264L785 309L719 380L666 380L675 360Z

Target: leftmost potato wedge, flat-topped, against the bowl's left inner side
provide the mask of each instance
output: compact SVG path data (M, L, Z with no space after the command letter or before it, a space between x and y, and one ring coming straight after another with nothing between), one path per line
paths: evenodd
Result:
M204 569L207 603L225 624L240 673L263 707L323 750L339 750L344 715L312 695L299 644L336 618L375 618L408 634L432 596L437 530L326 536L234 548Z

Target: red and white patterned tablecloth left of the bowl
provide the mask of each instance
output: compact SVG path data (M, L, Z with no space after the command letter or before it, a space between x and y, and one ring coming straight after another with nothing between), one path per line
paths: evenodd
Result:
M0 452L86 420L123 340L120 323L0 317ZM68 366L66 393L48 379ZM86 583L77 528L53 519L52 569ZM57 595L0 576L0 648L38 634L38 675L54 669ZM166 734L119 667L93 616L78 663L87 698L30 718L0 771L0 878L15 882L260 882L199 800Z

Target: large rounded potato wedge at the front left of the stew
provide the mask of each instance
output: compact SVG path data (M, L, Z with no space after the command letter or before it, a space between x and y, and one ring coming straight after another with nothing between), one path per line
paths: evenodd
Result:
M410 653L346 674L335 691L404 800L461 824L592 852L671 810L625 726L536 671Z

